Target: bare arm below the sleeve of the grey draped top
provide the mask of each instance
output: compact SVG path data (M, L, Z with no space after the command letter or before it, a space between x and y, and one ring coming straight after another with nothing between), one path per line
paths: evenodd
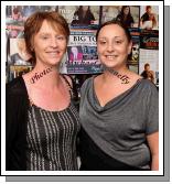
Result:
M151 170L159 170L159 132L147 136L148 144L151 151L152 163Z

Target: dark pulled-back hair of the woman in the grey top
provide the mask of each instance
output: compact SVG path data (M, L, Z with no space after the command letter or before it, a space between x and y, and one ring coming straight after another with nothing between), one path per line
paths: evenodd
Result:
M104 24L101 24L101 25L98 28L97 33L96 33L96 41L97 41L97 39L98 39L98 34L99 34L100 30L101 30L104 26L106 26L106 25L112 25L112 24L117 24L117 25L119 25L120 28L122 28L122 30L125 31L125 34L126 34L126 36L127 36L127 39L128 39L128 42L131 41L131 35L130 35L130 32L129 32L129 30L127 29L127 26L126 26L125 24L122 24L122 22L120 22L120 21L118 21L118 20L116 20L116 19L114 19L114 20L111 20L111 21L107 21L107 22L105 22Z

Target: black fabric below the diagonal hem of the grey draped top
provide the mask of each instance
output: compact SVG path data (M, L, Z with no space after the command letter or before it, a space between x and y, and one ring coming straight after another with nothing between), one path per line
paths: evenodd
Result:
M141 171L142 169L128 165L119 160L107 155L86 131L80 128L79 132L80 171Z

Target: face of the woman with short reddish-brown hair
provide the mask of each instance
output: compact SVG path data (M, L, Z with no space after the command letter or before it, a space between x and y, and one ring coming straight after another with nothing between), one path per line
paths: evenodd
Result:
M36 63L46 65L58 65L66 52L67 41L61 31L55 31L44 20L37 34L33 39L33 48Z

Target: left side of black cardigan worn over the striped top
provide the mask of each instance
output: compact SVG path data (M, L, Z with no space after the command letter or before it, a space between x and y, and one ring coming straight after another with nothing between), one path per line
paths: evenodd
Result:
M6 170L25 171L29 96L22 77L6 88Z

